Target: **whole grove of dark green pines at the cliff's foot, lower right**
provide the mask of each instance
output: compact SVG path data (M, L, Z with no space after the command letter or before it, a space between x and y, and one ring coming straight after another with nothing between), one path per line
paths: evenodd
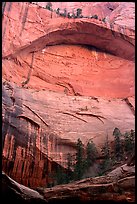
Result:
M84 147L82 141L78 138L75 155L67 154L66 169L58 166L54 176L56 180L55 183L65 184L74 180L90 177L90 172L92 174L92 171L95 171L95 166L98 170L96 175L104 175L107 171L111 170L117 162L125 161L126 155L132 155L135 150L135 131L130 130L122 135L120 130L116 127L112 135L114 136L114 141L111 147L108 134L106 135L101 149L101 159L91 139ZM87 175L87 172L89 172L89 175ZM48 186L51 185L53 184L48 184Z

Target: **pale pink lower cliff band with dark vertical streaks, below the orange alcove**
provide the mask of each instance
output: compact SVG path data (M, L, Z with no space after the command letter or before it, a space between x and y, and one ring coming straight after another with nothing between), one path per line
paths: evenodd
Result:
M15 100L14 100L15 99ZM123 115L124 112L124 115ZM3 83L3 170L30 187L45 186L57 164L66 167L81 138L97 148L117 126L134 129L134 114L122 99L67 96Z

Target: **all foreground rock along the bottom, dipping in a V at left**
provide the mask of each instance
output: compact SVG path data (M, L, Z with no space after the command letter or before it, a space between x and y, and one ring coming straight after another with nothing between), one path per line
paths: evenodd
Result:
M134 202L135 166L126 164L116 168L106 176L87 178L52 188L37 188L34 191L18 184L2 173L2 196L4 202L20 203L78 203L94 201ZM39 193L38 193L39 192ZM7 195L8 194L8 198Z

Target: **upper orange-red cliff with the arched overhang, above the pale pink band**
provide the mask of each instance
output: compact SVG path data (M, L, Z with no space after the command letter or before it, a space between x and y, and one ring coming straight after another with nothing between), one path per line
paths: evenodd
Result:
M12 8L10 11L8 6ZM18 26L23 32L19 35L19 32L12 31L12 26L17 26L21 16L20 10L25 20L22 19L24 24L20 21ZM15 19L11 19L10 16L14 16L14 13ZM130 18L129 15L131 21L127 27L114 23L114 27L111 28L109 23L100 20L68 19L53 13L55 15L51 19L50 11L35 4L6 4L3 18L3 77L19 86L65 92L68 95L113 98L133 96L133 16ZM6 28L10 28L10 32ZM57 46L62 43L82 44L84 47ZM87 47L85 44L96 48ZM33 57L31 52L35 52Z

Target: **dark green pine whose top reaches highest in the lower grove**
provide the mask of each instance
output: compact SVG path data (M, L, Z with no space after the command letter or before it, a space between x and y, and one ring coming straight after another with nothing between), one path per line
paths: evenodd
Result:
M118 128L114 129L113 136L115 138L114 154L115 154L116 160L119 161L123 158L123 146L121 142L121 132Z

